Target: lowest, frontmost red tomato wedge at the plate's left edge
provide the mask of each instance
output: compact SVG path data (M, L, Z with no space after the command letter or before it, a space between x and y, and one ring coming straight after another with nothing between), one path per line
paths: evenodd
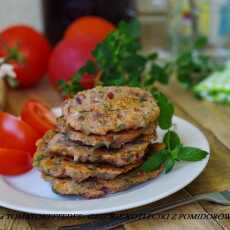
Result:
M0 148L0 166L0 174L21 174L32 168L32 157L22 150Z

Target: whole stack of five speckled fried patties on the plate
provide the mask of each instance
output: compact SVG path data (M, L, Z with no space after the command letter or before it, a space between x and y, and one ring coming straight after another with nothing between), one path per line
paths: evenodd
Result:
M157 176L138 170L156 138L159 108L139 88L96 87L63 105L57 130L38 142L34 166L55 192L96 198Z

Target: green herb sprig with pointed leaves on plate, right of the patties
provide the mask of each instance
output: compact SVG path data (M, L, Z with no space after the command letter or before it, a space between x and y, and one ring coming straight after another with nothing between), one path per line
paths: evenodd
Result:
M141 171L150 172L164 166L170 172L177 161L199 161L207 156L207 152L198 148L184 146L176 132L168 130L164 135L165 148L153 152L140 167Z

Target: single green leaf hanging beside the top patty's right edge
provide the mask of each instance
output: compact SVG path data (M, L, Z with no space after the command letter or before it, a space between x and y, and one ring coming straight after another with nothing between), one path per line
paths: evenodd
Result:
M168 98L159 91L152 92L156 99L158 106L160 107L160 117L158 119L159 126L162 129L169 129L172 126L172 116L174 113L173 104Z

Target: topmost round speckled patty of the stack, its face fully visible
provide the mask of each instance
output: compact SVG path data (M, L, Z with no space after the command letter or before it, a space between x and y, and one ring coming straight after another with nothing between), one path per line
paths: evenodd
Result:
M134 87L95 87L65 101L67 125L85 134L105 135L128 129L146 128L159 116L151 94Z

